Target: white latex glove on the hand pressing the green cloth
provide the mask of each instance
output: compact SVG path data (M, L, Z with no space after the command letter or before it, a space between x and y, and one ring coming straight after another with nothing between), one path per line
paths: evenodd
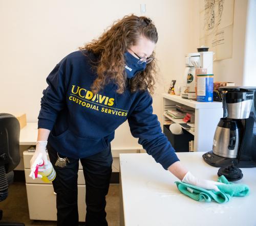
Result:
M217 185L223 184L223 183L216 182L216 181L198 179L198 178L194 177L194 175L189 171L185 174L184 178L182 179L182 182L191 184L191 185L195 185L197 187L204 188L206 190L215 190L215 191L220 190L217 187Z

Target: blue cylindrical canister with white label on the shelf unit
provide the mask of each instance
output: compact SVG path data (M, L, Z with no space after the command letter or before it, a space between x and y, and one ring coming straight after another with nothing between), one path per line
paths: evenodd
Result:
M197 101L214 101L214 75L197 74Z

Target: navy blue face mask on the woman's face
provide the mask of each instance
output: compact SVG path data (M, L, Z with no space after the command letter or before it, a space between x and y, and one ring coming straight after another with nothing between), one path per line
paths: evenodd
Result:
M146 68L146 62L143 62L142 64L138 64L138 60L136 57L134 57L132 54L129 52L124 53L124 58L125 58L125 71L127 78L131 79L135 76L135 74L139 71L143 71Z

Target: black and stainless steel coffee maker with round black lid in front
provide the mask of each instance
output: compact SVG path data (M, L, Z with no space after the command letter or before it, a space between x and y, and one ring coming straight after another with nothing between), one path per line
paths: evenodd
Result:
M216 128L212 150L203 159L211 166L223 167L218 175L239 180L243 174L236 167L256 167L256 87L227 86L219 91L223 118Z

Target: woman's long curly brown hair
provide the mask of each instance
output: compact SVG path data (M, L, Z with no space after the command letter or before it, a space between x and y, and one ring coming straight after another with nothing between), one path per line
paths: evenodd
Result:
M126 84L124 52L132 45L136 45L141 35L157 43L157 29L152 20L145 16L132 14L115 21L112 27L97 40L94 39L79 47L80 51L87 49L89 53L93 52L99 56L97 62L91 60L92 68L98 75L91 86L93 93L98 93L110 81L116 83L116 92L119 94L124 92L127 85L131 92L148 89L151 94L154 93L155 77L158 71L156 60L148 63L144 71L138 72L134 78L129 80L129 84ZM151 57L155 57L155 52Z

